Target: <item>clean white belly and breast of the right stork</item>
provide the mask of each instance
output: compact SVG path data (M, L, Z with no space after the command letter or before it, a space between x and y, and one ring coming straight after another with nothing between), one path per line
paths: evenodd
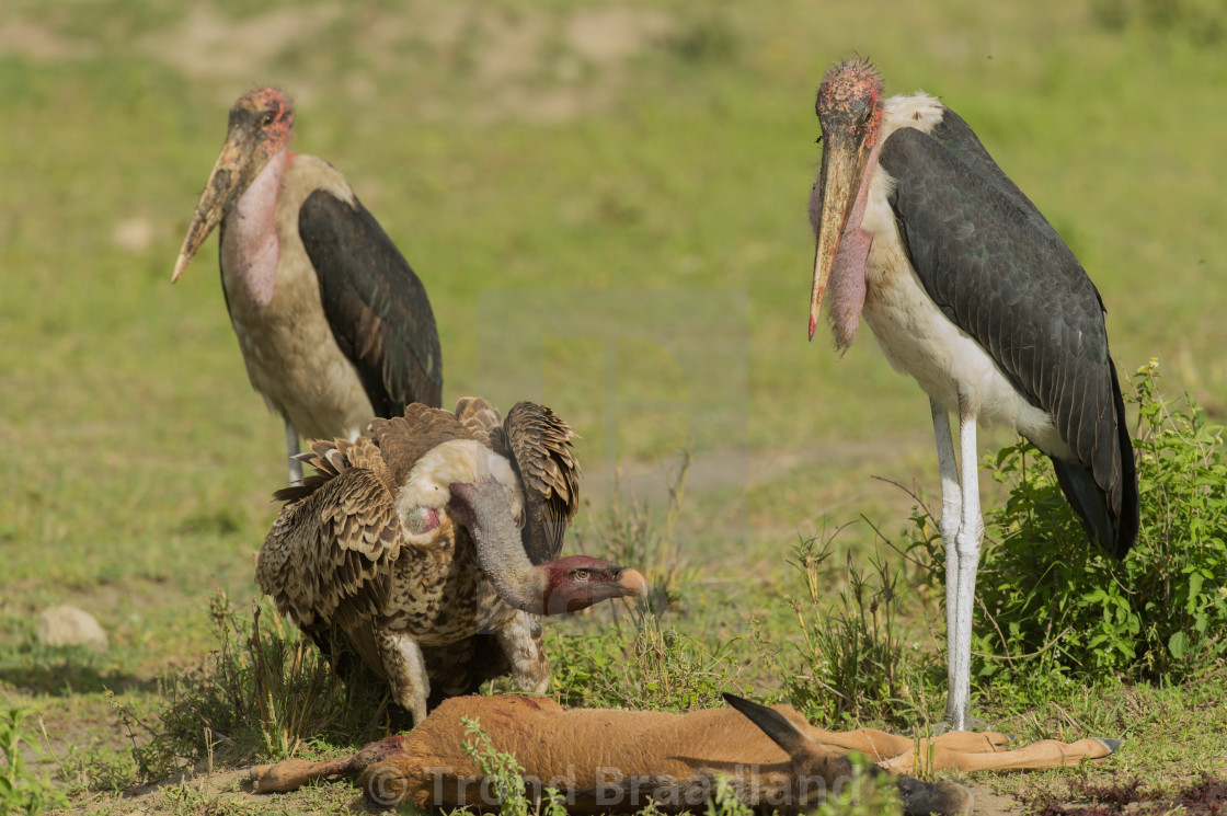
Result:
M876 173L886 177L881 168ZM885 184L875 187L882 190ZM962 399L978 422L1015 428L1044 453L1070 458L1052 414L1031 405L988 352L929 298L903 252L885 195L870 193L863 228L874 243L861 314L891 366L912 375L947 412L957 416Z

